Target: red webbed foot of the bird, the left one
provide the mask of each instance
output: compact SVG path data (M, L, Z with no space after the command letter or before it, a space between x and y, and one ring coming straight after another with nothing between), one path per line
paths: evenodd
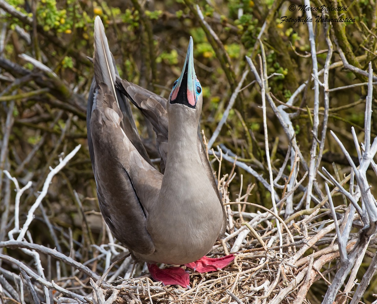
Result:
M182 267L169 267L160 269L156 264L147 263L151 277L161 281L164 285L181 285L189 287L190 276Z

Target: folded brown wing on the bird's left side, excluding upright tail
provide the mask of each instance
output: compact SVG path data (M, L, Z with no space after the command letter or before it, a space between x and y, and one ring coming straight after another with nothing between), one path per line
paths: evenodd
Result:
M152 254L155 247L146 230L146 217L158 197L162 175L124 134L122 113L103 82L95 99L90 132L101 212L121 243L140 254Z

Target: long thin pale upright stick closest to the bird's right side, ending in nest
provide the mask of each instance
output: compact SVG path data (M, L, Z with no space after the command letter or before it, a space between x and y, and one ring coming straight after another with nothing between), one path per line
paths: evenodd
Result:
M259 44L261 45L261 52L262 52L262 58L260 60L261 62L261 75L262 75L262 112L263 112L263 128L264 128L264 145L266 150L266 161L268 166L268 173L270 176L270 187L271 189L274 188L274 178L272 176L272 168L271 168L271 160L270 160L270 149L268 147L268 131L267 131L267 114L266 114L266 94L268 94L268 82L267 82L267 64L266 64L266 54L264 52L264 45L262 41L259 41ZM267 88L267 92L266 92ZM277 215L277 207L276 207L276 201L275 196L271 195L272 205L274 208L274 213ZM282 231L280 224L276 222L277 227L277 234L279 236L279 244L280 244L280 255L283 255L283 237L282 237Z

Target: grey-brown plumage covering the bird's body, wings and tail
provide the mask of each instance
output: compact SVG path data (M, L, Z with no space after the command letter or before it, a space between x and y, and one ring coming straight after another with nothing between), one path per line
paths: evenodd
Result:
M185 66L191 64L192 73L190 56ZM121 80L99 17L93 64L88 144L107 225L138 260L184 264L201 258L226 228L221 197L197 134L201 95L190 108ZM126 96L152 123L163 174L150 163Z

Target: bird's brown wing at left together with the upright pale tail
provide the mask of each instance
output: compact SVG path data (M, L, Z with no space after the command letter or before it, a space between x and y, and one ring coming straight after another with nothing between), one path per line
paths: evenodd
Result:
M155 247L146 230L146 217L158 198L162 174L139 150L141 141L135 135L131 112L119 108L119 92L112 82L116 68L99 17L95 20L93 63L95 81L88 99L87 127L100 209L120 242L132 251L152 254ZM123 113L133 123L125 123Z

